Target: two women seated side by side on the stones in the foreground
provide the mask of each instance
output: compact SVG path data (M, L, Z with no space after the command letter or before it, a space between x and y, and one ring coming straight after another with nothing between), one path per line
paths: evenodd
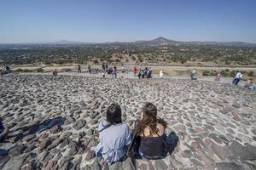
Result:
M166 135L167 122L157 116L157 108L146 103L142 108L143 118L131 129L122 122L122 111L118 104L108 107L107 120L99 123L100 142L96 146L96 156L108 164L125 156L161 159L174 150L177 135ZM133 154L131 154L133 153Z

